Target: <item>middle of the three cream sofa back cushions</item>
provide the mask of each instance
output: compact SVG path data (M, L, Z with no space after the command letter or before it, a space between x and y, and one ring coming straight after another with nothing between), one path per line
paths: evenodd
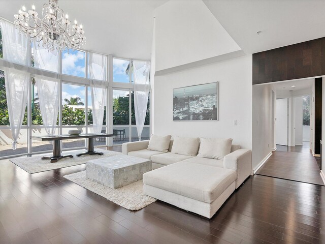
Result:
M172 146L173 154L197 156L200 138L175 137Z

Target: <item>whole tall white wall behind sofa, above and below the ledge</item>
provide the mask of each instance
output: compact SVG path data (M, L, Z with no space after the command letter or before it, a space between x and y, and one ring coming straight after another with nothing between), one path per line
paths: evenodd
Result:
M152 133L233 138L251 148L252 55L202 66L201 61L240 50L202 1L169 1L156 9L155 21ZM218 121L173 121L174 88L216 81Z

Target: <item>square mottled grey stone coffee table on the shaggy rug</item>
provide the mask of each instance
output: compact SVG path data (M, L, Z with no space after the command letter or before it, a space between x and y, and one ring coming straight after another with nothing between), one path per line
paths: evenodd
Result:
M151 169L151 160L122 154L86 162L87 178L113 189L142 179Z

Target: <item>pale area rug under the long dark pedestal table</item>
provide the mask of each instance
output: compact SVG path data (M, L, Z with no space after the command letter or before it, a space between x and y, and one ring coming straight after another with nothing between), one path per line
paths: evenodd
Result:
M64 158L60 159L56 163L51 163L48 159L41 159L43 156L41 155L34 155L32 157L24 157L24 158L13 158L9 159L11 162L13 162L15 165L19 166L26 172L30 174L43 172L47 170L52 169L60 169L64 167L79 165L79 164L85 164L86 161L92 160L92 159L98 159L100 157L110 157L113 155L121 154L116 151L108 151L103 149L95 149L96 151L102 151L104 155L83 155L80 157L77 157L77 154L84 153L85 150L79 150L79 151L70 151L66 152L63 151L62 155L73 155L73 158ZM51 155L46 155L51 156Z

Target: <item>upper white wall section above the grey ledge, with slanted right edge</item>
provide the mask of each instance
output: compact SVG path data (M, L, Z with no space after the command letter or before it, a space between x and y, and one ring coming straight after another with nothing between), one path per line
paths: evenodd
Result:
M240 50L201 0L169 1L155 21L156 71Z

